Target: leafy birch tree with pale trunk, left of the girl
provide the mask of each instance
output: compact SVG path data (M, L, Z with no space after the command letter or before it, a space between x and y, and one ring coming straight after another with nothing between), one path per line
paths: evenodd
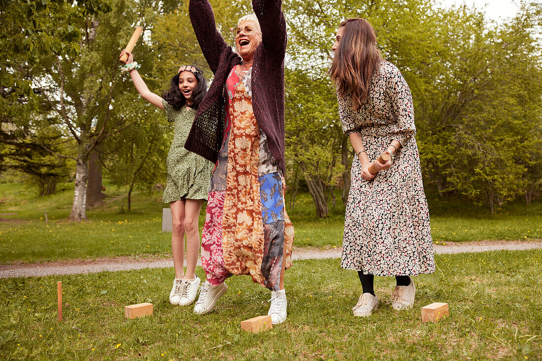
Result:
M79 52L43 56L30 74L30 80L39 89L38 98L50 107L47 126L75 143L73 155L55 152L76 162L70 220L86 219L89 155L109 135L131 125L132 118L117 110L119 104L130 101L129 97L123 97L126 92L118 54L130 38L133 23L147 6L158 6L130 0L118 0L113 5L111 12L98 17L66 12L64 21L78 24L83 34ZM33 120L29 120L28 127L34 126Z

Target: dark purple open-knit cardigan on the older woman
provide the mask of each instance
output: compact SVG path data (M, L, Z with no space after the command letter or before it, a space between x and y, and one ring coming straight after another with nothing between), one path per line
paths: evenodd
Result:
M252 67L252 106L258 126L267 136L271 155L285 173L284 162L284 56L286 21L282 0L253 0L252 7L262 29ZM222 145L225 106L224 86L229 71L241 64L241 57L216 30L208 0L190 0L190 21L209 68L215 74L196 117L185 148L216 163Z

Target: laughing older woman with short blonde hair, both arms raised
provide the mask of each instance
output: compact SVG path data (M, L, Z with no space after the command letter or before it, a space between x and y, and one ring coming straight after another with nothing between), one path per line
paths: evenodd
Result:
M215 74L186 149L215 163L202 232L207 281L194 313L210 312L232 274L249 274L271 290L273 324L287 316L284 270L292 264L294 230L284 193L284 57L280 0L253 0L255 14L232 29L233 49L216 30L208 0L190 0L203 55Z

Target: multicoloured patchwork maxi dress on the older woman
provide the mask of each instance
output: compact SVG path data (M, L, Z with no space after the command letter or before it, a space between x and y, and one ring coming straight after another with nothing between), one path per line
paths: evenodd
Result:
M211 285L231 274L279 290L282 264L292 265L294 228L285 209L285 180L258 127L251 73L231 69L225 87L224 140L209 189L202 231L202 266Z

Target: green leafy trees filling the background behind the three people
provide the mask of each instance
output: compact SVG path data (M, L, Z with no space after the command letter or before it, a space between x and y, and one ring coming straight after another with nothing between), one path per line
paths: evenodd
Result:
M218 30L233 44L228 30L251 12L250 2L211 3ZM306 186L322 217L328 201L336 201L334 189L346 200L353 154L326 73L337 26L349 17L371 22L383 57L410 86L427 187L492 212L508 200L540 195L539 2L522 2L502 24L479 9L443 9L431 0L285 0L283 11L292 200ZM86 217L91 152L100 153L109 178L130 189L165 181L171 128L117 61L135 25L144 32L133 53L151 91L161 95L182 64L198 65L212 81L188 0L0 0L0 172L69 174L76 182L73 219Z

